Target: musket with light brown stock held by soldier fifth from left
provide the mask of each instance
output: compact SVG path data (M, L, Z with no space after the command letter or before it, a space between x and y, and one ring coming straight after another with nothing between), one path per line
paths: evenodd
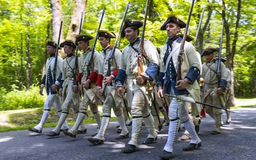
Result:
M145 36L145 29L146 29L146 23L147 23L148 8L149 8L149 0L147 0L147 4L146 4L145 17L144 17L143 27L141 31L141 37L140 37L140 50L138 53L138 63L139 63L138 76L140 76L141 73L144 72L143 66L142 66L142 55L144 54L144 36Z

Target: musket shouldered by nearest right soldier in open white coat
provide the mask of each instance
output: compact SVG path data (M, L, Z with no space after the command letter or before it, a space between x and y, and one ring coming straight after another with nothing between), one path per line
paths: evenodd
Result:
M184 31L184 35L183 35L181 45L180 45L180 52L178 54L179 63L178 63L178 69L177 69L177 82L179 80L181 80L181 64L182 64L182 61L183 61L182 55L184 54L184 45L185 45L187 34L188 34L188 26L189 26L189 21L190 21L191 15L192 15L194 2L195 2L195 0L192 0L190 11L189 11L189 14L188 14L188 21L187 21L186 28L185 28L185 31Z

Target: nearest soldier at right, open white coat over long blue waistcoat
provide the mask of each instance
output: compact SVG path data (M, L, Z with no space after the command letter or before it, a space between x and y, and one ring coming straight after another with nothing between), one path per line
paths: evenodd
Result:
M185 42L184 54L182 55L181 64L181 80L177 82L178 55L182 38L178 35L180 28L185 28L186 22L178 18L178 16L170 15L161 30L166 30L168 40L161 49L161 66L158 76L158 97L163 98L165 94L185 95L200 101L200 90L196 78L200 75L200 62L196 55L196 50L189 42ZM164 86L164 91L162 90ZM172 93L173 92L173 93ZM192 104L192 116L200 113L200 105ZM170 159L172 157L173 145L179 128L179 121L183 123L186 130L191 136L188 147L183 150L193 150L200 148L201 140L196 134L193 121L189 118L185 101L172 99L169 106L170 125L168 131L168 139L161 154L162 159Z

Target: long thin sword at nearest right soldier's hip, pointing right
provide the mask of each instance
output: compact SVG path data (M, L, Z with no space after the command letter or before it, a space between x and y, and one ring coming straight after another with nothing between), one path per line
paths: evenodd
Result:
M182 96L182 95L170 95L170 94L165 94L165 95L168 96L168 97L176 98L176 100L183 100L183 101L187 101L187 102L190 102L190 103L198 103L198 104L202 104L202 105L209 106L209 107L212 107L212 108L218 108L218 109L223 109L225 111L234 112L230 109L221 108L221 107L218 107L218 106L214 106L212 104L196 101L192 97L186 97L186 96Z

